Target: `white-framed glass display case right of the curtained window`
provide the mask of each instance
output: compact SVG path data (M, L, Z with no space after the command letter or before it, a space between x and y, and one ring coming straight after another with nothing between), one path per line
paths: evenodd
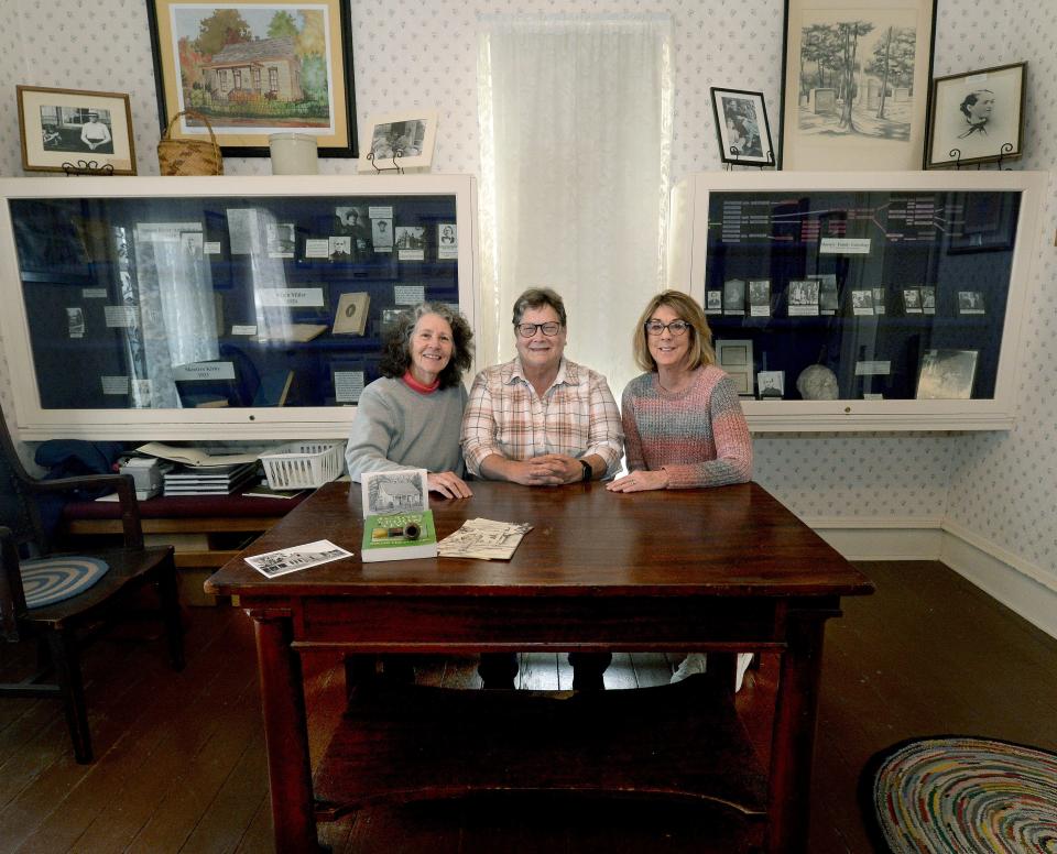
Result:
M1039 187L1025 172L709 173L668 275L754 431L1007 429Z

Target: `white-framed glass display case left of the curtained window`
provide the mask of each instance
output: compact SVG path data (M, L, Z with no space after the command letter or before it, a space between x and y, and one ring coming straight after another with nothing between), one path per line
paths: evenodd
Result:
M469 176L0 180L24 439L344 438L399 313L475 326Z

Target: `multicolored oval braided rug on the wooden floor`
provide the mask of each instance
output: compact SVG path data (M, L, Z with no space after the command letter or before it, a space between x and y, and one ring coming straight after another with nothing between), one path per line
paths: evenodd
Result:
M868 763L860 793L893 854L1057 854L1057 754L1037 747L902 742Z

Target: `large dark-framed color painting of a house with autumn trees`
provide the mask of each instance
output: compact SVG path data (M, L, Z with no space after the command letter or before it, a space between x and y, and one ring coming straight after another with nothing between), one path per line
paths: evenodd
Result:
M291 131L320 156L359 155L349 0L148 0L148 20L163 129L190 110L225 156L266 157ZM187 114L170 132L208 138Z

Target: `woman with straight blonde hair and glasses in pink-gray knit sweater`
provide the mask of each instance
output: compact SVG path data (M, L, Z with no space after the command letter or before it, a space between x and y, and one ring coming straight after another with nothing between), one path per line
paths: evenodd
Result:
M650 300L634 337L635 362L646 373L624 388L621 419L628 474L611 492L726 486L752 477L752 439L731 379L716 365L705 313L678 291ZM738 683L752 660L738 656ZM705 672L690 653L672 677Z

